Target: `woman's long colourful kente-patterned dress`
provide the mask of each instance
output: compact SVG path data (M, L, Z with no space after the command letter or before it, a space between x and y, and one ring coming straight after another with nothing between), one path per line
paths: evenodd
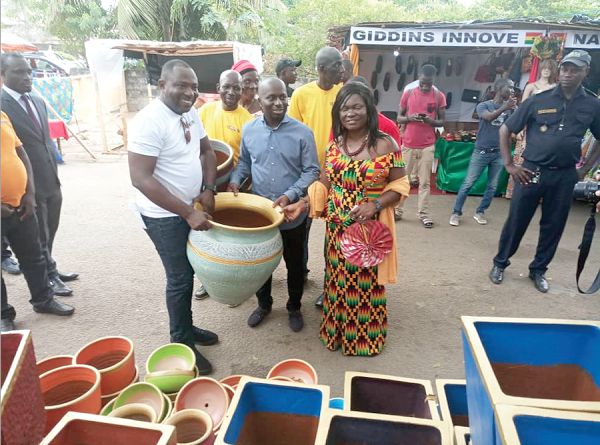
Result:
M390 169L404 167L400 151L367 160L353 160L332 143L326 157L330 181L325 208L325 298L320 337L330 350L344 355L379 354L387 335L385 287L377 282L377 266L358 267L344 258L341 237L354 221L350 210L377 199Z

